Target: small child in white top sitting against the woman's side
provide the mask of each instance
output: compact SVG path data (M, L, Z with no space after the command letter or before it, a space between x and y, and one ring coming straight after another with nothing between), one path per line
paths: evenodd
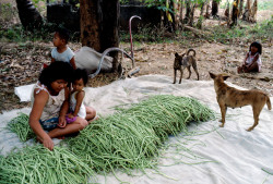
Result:
M67 115L67 122L73 122L76 116L85 120L94 119L94 114L91 114L88 107L83 105L85 96L84 87L88 82L87 72L84 69L76 69L73 73L72 91L70 96L70 113Z

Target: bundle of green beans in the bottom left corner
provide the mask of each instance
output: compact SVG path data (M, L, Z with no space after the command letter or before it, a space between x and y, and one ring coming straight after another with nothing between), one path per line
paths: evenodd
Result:
M87 183L94 175L92 163L86 164L66 147L52 151L43 145L25 147L0 158L0 183Z

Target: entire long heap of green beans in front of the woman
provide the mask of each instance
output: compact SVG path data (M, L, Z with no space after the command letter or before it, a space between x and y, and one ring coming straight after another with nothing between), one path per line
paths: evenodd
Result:
M54 151L35 145L0 156L0 183L87 183L95 172L156 170L169 135L187 134L189 122L213 118L214 112L195 99L152 96L92 122Z

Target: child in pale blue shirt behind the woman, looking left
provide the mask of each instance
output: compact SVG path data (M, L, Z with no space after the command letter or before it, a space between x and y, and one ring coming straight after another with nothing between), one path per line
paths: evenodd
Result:
M69 40L69 30L58 28L54 35L54 46L51 51L51 62L63 61L69 62L75 70L74 52L67 46Z

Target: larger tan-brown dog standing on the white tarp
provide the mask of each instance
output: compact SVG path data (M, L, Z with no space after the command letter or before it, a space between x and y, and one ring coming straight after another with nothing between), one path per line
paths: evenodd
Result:
M219 105L222 114L222 125L225 124L225 115L227 108L241 108L244 106L252 106L254 124L250 126L247 131L252 131L259 122L259 115L264 107L265 102L269 110L271 110L270 98L266 94L260 90L239 90L234 87L229 87L224 83L228 76L216 75L210 73L211 77L214 79L214 89L216 93L217 102Z

